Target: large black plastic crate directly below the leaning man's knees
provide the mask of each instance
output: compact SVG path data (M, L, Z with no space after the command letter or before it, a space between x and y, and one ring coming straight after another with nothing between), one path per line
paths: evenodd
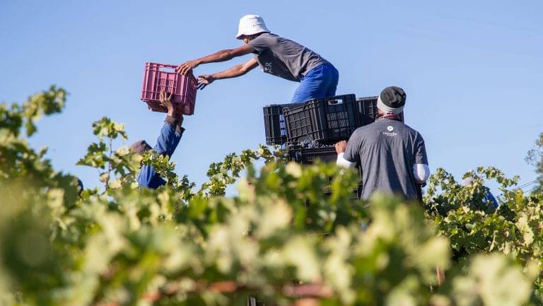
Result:
M283 114L289 143L349 139L360 125L355 95L312 99L300 107L284 108Z

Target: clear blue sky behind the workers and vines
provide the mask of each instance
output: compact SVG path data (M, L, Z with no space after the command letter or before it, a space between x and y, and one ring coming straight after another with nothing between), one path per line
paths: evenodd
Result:
M49 146L58 169L96 186L96 172L75 165L94 141L93 121L126 124L127 145L158 136L163 114L139 100L144 63L238 47L239 18L257 13L273 33L331 61L338 93L403 87L406 122L424 136L432 170L460 176L494 165L528 182L535 174L524 158L543 131L542 12L535 0L2 1L0 100L66 88L66 111L42 120L31 143ZM288 102L296 86L255 69L199 91L173 155L177 172L201 183L209 163L264 143L262 107Z

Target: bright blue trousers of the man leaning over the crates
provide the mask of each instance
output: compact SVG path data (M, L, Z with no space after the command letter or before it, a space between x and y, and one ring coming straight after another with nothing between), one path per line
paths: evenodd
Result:
M305 102L315 98L336 95L339 72L332 64L322 64L305 73L300 86L296 88L292 102Z

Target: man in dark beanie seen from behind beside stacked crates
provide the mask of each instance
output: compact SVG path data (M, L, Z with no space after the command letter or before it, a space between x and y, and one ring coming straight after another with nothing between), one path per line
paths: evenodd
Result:
M361 198L385 192L417 199L416 184L428 180L428 157L421 134L401 122L406 95L402 88L387 87L378 98L379 116L361 126L349 143L336 144L338 165L361 165Z

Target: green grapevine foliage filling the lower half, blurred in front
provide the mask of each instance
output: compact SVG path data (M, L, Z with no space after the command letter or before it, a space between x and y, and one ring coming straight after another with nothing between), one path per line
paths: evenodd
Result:
M211 164L196 187L167 157L114 148L127 134L104 117L78 162L104 188L78 196L76 177L26 139L65 100L52 87L0 105L1 304L542 304L542 194L513 189L518 179L494 167L467 173L467 187L438 170L424 205L359 201L355 172L259 146ZM167 184L140 188L142 163ZM482 204L486 179L503 188L496 211Z

